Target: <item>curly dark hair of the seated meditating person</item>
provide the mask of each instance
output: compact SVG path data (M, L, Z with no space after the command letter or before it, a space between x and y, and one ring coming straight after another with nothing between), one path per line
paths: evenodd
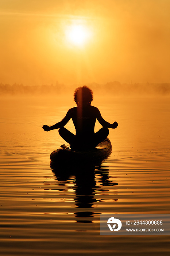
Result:
M93 91L87 87L78 87L74 91L74 101L76 101L77 106L80 105L80 102L88 103L88 105L91 105L91 102L93 100Z

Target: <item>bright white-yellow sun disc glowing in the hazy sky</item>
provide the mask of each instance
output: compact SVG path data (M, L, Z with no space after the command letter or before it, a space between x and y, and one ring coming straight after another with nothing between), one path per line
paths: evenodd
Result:
M91 37L91 31L85 25L70 25L65 34L67 41L75 46L84 46Z

